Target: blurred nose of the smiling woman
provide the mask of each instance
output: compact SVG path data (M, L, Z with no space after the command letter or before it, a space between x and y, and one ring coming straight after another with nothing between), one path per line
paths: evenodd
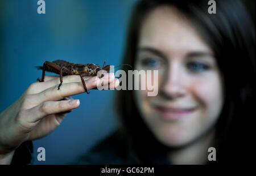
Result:
M160 94L169 98L177 98L185 95L184 79L182 69L179 63L172 63L166 76L164 76L163 84L160 85Z

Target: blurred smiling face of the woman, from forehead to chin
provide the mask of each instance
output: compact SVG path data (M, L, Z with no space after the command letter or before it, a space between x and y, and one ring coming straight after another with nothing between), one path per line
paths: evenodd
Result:
M158 70L158 95L134 91L143 121L155 137L180 147L205 134L223 105L220 71L212 49L173 7L151 11L139 33L136 70Z

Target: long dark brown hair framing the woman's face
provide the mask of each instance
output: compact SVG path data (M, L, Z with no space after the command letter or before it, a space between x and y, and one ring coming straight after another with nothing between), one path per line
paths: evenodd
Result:
M255 113L252 113L256 80L255 28L245 7L238 0L222 0L216 2L217 13L208 14L208 1L139 1L131 15L123 63L134 67L143 19L160 5L172 5L180 10L195 24L213 49L225 84L224 108L216 125L218 161L232 160L232 152L236 152L237 157L239 154L242 156L247 149L246 144L252 140L247 134L252 133L248 126L249 118L255 117ZM143 123L135 106L133 92L117 93L122 130L137 160L146 163L147 152L156 151L156 148L162 152L170 149L160 144ZM236 150L230 151L232 147Z

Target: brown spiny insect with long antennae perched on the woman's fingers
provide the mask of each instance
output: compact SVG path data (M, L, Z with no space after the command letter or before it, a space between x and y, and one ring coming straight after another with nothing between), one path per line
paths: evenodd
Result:
M106 62L104 62L105 65ZM82 79L84 76L97 76L98 71L100 70L105 70L107 73L110 70L110 65L106 65L104 67L104 65L102 66L102 68L94 63L88 63L88 64L80 64L80 63L71 63L71 62L67 62L67 61L63 61L63 60L56 60L56 61L46 61L44 62L43 66L36 66L36 68L43 70L42 72L42 78L41 79L37 79L40 82L44 81L44 75L46 71L49 72L54 72L56 74L60 75L60 84L58 87L58 90L60 89L60 86L63 82L63 76L65 75L80 75L81 81L82 81L82 85L84 85L84 89L86 93L90 93L87 91L84 79ZM123 65L128 65L129 64L123 64ZM123 66L120 65L120 66ZM119 66L117 66L119 67ZM131 67L131 66L130 66ZM116 67L114 67L116 68ZM101 78L104 76L104 74L101 75Z

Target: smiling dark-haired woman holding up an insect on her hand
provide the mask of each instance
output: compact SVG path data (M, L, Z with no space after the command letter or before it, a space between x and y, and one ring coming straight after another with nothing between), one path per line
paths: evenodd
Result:
M208 14L207 1L138 3L123 62L135 70L158 70L152 78L158 79L158 95L148 97L147 89L119 91L121 132L81 157L79 164L208 164L242 159L251 140L250 131L244 131L248 122L241 119L253 113L254 28L240 1L218 1L216 9L216 14ZM86 86L96 87L96 79L88 79ZM34 83L1 113L2 163L15 162L20 144L49 134L65 117L61 112L79 106L78 100L63 100L84 91L81 83L74 83L79 76L65 76L63 82L61 92L55 89L57 78ZM112 76L108 84L117 87L118 81ZM51 125L45 128L46 123ZM233 144L237 150L230 148ZM210 147L216 149L216 162L208 160Z

